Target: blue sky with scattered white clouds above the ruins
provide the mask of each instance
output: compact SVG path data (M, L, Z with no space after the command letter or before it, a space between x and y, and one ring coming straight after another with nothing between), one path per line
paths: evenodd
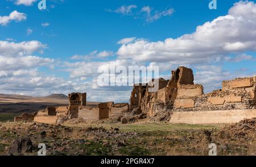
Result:
M85 91L90 101L127 102L131 87L96 84L109 62L156 64L166 79L185 65L205 91L256 74L254 1L217 0L216 10L208 0L46 0L46 10L38 2L0 2L0 93Z

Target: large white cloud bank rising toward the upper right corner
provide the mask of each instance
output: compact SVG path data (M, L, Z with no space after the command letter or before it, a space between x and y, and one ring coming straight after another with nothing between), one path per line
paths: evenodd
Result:
M218 61L225 55L256 50L256 4L238 2L228 15L196 28L192 34L164 41L137 40L123 44L120 59L193 64Z

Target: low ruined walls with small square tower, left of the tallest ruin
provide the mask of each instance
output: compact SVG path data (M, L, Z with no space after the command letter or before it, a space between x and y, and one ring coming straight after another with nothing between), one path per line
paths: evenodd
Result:
M86 93L71 93L68 95L68 106L49 106L33 114L16 116L14 122L35 121L39 123L56 124L68 119L82 118L86 121L108 119L115 114L122 114L129 110L128 103L105 102L98 105L86 105Z

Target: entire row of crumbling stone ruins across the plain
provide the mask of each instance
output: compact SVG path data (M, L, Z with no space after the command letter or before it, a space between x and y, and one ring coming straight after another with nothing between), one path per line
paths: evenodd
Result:
M159 83L158 87L155 83ZM86 93L71 93L68 97L68 106L47 107L37 114L16 116L15 121L55 124L82 118L95 122L123 115L128 110L133 115L143 114L149 118L168 113L163 116L171 123L189 124L235 123L256 117L256 77L223 81L221 90L204 94L203 85L194 83L192 69L184 66L173 70L170 80L159 78L134 85L130 104L105 102L87 105Z

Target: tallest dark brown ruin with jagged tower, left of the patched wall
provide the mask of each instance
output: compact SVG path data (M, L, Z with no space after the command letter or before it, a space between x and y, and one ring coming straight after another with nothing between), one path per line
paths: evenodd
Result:
M150 92L154 89L154 83L158 82L158 90ZM153 79L147 84L134 85L130 97L130 110L139 112L147 112L148 115L158 111L156 106L160 104L165 108L174 108L174 102L177 98L178 87L182 85L193 85L193 72L191 69L179 67L172 71L172 79L164 80L163 78ZM146 86L142 86L146 85Z

